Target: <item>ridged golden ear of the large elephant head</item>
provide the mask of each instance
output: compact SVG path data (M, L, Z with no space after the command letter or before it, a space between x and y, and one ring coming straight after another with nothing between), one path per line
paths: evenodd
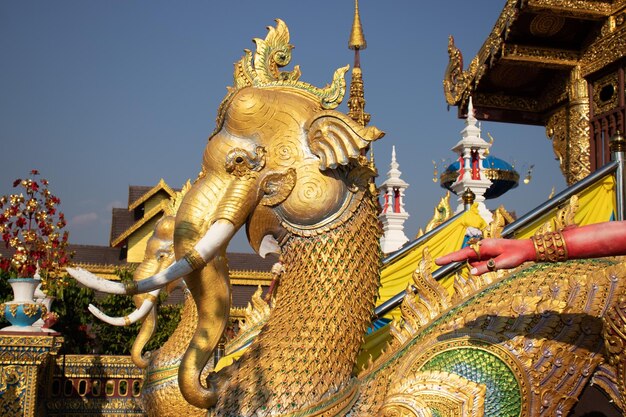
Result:
M361 155L362 149L385 135L374 126L361 126L333 110L317 113L307 126L309 148L320 158L320 170L347 165Z

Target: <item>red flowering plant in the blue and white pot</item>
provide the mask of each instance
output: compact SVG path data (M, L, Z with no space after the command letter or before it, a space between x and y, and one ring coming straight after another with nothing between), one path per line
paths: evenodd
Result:
M62 273L72 253L67 250L68 232L65 216L57 211L61 202L48 190L48 180L39 171L31 178L16 179L20 192L0 197L0 235L12 253L0 255L0 270L10 277L33 277L37 271L44 287Z

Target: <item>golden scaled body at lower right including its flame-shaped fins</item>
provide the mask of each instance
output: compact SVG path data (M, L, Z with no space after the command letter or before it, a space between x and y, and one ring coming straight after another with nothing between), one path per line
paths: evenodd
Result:
M537 233L573 225L577 208L574 196ZM499 208L486 236L500 237L510 220ZM430 416L430 408L439 410L440 415L482 415L484 395L477 394L471 381L449 384L446 381L458 376L420 371L420 366L442 351L477 344L515 374L522 391L522 416L547 416L557 411L566 415L594 371L593 383L621 407L619 391L624 389L625 373L603 364L605 358L596 353L602 345L600 318L624 292L618 277L626 268L620 262L522 265L510 275L505 271L466 278L457 274L455 293L450 297L432 278L430 255L425 251L408 286L417 291L407 291L402 321L391 326L394 339L390 345L374 366L370 364L359 375L361 394L351 415ZM626 356L626 303L622 299L620 296L607 316L614 331L613 337L605 335L605 339L607 346L613 346L612 352L610 347L607 351L615 364L623 363ZM532 336L525 337L529 334ZM433 394L429 386L437 378L440 381ZM430 385L424 383L427 380ZM444 404L442 394L464 400Z

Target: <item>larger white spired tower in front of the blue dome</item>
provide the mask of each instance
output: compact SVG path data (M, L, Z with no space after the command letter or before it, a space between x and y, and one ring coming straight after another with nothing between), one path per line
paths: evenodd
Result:
M490 223L493 218L485 206L485 193L492 184L491 180L487 178L484 166L490 147L491 144L480 136L480 127L477 126L474 105L470 97L465 128L461 130L461 140L452 148L452 151L459 158L459 170L458 177L450 185L450 189L458 197L456 213L465 209L463 193L469 189L475 194L474 201L478 203L478 211L487 223Z

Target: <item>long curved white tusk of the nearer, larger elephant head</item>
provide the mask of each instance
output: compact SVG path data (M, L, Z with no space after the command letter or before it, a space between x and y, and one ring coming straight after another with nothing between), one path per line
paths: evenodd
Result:
M235 231L235 226L228 220L218 220L209 227L202 239L196 243L194 250L200 255L204 263L209 262L217 255L218 250L233 237ZM99 278L81 268L67 268L67 272L71 276L89 288L107 294L127 295L146 293L164 287L193 270L194 268L189 261L183 258L149 278L123 284Z

